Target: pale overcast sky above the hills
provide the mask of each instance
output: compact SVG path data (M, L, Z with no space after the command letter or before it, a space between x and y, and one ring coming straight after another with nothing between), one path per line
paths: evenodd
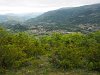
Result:
M100 0L0 0L0 13L46 12L95 3Z

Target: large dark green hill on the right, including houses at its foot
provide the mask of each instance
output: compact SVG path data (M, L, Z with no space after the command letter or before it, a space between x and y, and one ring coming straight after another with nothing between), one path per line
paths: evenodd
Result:
M25 22L48 30L96 31L100 29L100 4L48 11Z

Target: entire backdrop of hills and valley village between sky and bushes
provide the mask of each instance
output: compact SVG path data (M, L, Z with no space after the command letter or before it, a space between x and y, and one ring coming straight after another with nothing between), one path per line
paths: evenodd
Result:
M51 32L89 33L100 30L100 3L80 7L61 8L46 13L0 15L0 25L13 32L35 34ZM21 30L22 29L22 30Z

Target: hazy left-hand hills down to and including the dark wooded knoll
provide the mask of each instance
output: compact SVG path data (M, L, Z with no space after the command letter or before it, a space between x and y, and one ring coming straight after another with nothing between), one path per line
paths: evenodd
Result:
M0 26L13 31L24 31L27 30L27 26L23 25L23 22L39 16L42 13L27 13L27 14L13 14L7 13L0 15Z

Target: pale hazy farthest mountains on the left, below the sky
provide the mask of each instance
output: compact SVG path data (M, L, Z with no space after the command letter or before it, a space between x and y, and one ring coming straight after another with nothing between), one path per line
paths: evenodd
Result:
M28 20L30 18L35 18L39 15L41 15L42 13L27 13L27 14L13 14L13 13L7 13L4 15L0 15L0 23L2 22L7 22L7 21L19 21L19 22L23 22L25 20Z

